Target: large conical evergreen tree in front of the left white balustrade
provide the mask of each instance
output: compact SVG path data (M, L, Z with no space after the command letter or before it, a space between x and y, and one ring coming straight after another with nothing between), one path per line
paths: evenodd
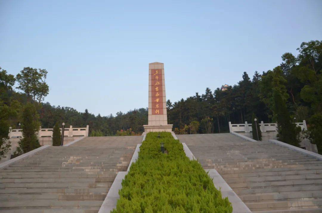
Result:
M27 153L40 147L37 138L37 132L39 131L40 122L36 107L31 103L27 103L24 107L22 118L23 139L20 140L20 149L17 150L18 152Z

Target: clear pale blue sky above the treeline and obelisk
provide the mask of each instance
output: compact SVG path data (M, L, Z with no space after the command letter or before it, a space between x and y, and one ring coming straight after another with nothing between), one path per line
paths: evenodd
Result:
M115 115L147 107L148 63L174 102L273 69L321 26L321 0L0 0L0 66L47 69L45 101Z

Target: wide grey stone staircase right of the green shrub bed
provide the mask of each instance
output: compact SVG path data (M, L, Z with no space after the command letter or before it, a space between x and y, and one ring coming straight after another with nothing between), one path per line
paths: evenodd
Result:
M252 212L322 212L322 161L229 133L177 137L204 169L216 169Z

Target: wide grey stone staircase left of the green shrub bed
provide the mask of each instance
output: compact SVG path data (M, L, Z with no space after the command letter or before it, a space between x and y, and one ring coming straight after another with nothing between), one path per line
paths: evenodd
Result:
M0 212L98 212L142 138L87 137L0 170Z

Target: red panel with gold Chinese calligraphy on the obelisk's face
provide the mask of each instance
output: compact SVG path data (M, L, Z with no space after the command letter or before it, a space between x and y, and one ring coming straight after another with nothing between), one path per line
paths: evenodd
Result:
M162 69L151 69L152 115L163 115Z

